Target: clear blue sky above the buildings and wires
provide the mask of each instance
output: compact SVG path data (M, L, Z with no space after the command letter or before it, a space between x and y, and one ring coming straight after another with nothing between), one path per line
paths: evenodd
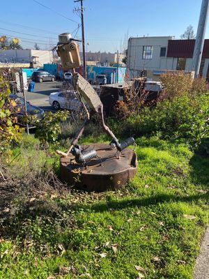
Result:
M73 0L37 1L56 13L35 0L2 1L0 35L20 38L24 47L31 48L37 42L42 49L49 49L56 44L59 33L77 29L75 22L80 19L73 9L78 3ZM84 7L88 50L116 52L123 48L127 34L179 38L189 24L196 32L201 0L84 0ZM81 29L77 36L81 37ZM206 38L209 38L209 26Z

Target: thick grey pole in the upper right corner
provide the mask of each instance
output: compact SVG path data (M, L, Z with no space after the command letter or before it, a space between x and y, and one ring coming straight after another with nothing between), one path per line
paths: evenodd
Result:
M194 54L192 59L192 70L195 71L195 77L199 77L199 69L201 65L201 58L203 54L203 45L206 33L206 25L208 20L209 0L203 0L201 6L201 13L199 17L199 24L196 33L196 41L194 45Z

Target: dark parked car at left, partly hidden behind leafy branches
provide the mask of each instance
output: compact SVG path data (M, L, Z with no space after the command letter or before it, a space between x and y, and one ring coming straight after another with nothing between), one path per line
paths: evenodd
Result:
M17 123L19 123L22 126L25 126L23 123L23 117L25 115L24 99L17 96L16 94L10 94L9 98L14 100L15 103L17 104L17 107L20 108L20 112L17 112ZM26 102L26 109L27 109L28 114L36 115L38 117L38 119L42 119L42 117L45 114L44 110L42 110L40 107L36 107L35 105L31 105L31 103L29 103L29 102Z

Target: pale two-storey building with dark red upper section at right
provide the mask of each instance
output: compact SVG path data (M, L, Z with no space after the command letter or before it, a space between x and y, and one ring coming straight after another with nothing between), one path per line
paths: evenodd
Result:
M127 48L127 69L130 78L147 70L150 80L158 80L166 70L192 71L195 40L167 37L130 38ZM200 75L209 78L209 40L205 40Z

